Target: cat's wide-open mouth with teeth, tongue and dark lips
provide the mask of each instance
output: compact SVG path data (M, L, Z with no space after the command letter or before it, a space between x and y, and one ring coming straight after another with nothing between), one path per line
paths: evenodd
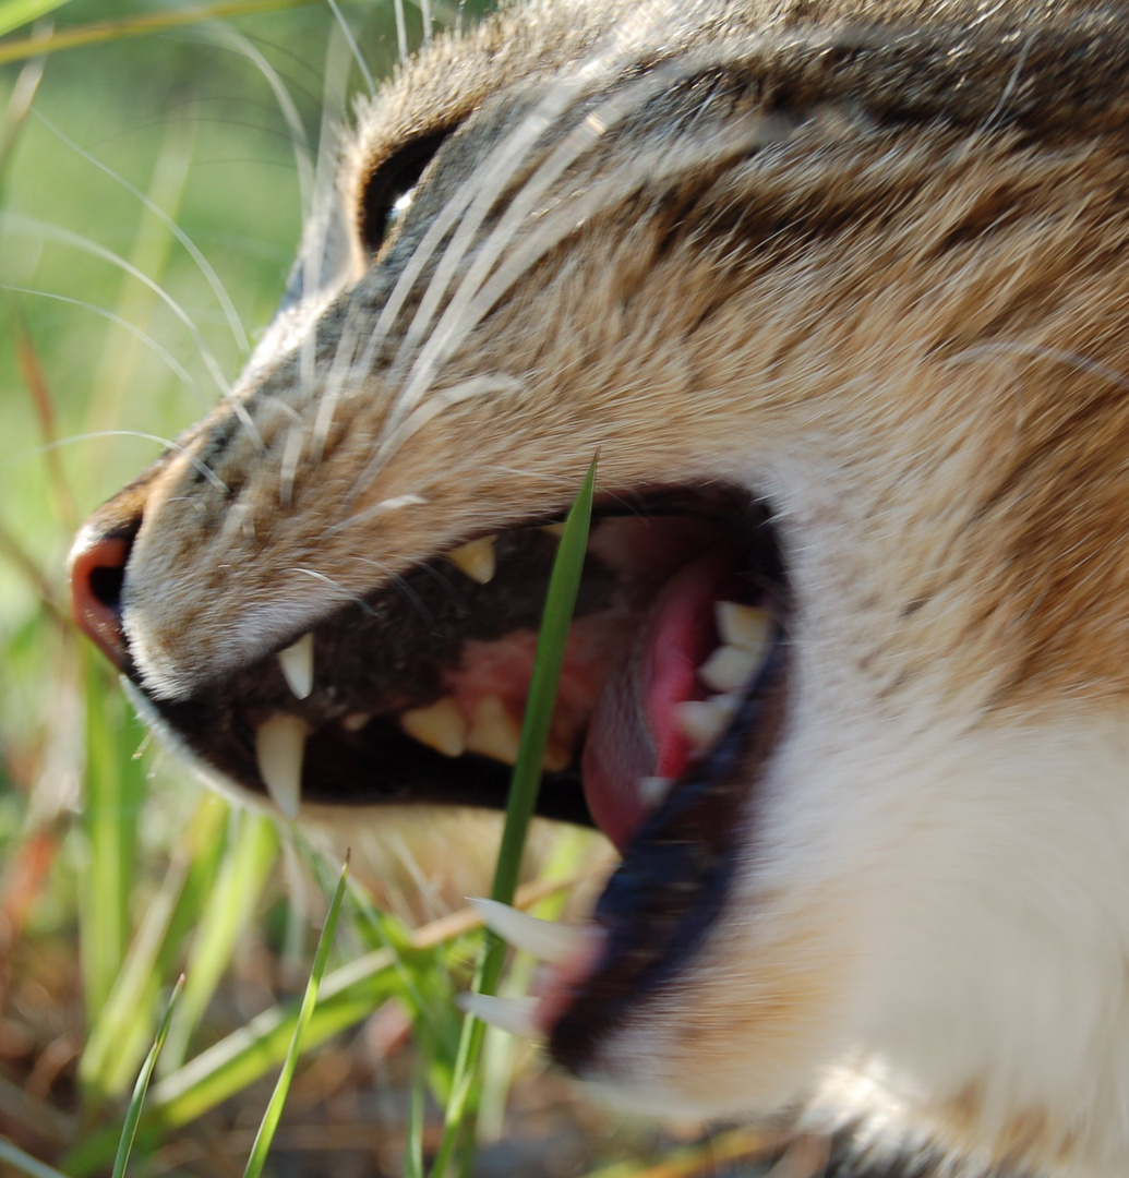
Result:
M534 521L476 537L145 710L291 815L299 803L504 806L559 530ZM539 802L594 822L625 855L599 935L547 954L557 962L535 1021L573 1066L717 912L731 833L780 726L786 608L768 514L747 494L597 504Z

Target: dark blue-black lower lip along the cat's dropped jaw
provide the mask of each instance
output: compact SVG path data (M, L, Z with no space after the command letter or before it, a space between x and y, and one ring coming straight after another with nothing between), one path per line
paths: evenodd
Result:
M784 728L790 662L778 622L772 653L721 740L632 836L596 905L602 957L549 1031L553 1057L570 1071L590 1068L629 1012L701 948L734 875L738 820L755 803Z

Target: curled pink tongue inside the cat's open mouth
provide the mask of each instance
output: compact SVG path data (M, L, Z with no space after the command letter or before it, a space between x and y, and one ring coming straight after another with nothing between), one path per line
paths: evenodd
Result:
M667 582L592 714L581 762L585 796L620 851L652 808L640 777L679 777L689 760L674 709L705 697L696 668L718 644L713 603L732 569L729 554L713 552Z

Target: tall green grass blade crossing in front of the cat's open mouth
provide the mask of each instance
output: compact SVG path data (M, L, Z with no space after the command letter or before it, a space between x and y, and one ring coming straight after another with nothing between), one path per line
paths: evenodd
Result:
M585 551L588 547L592 502L596 483L596 458L592 459L580 495L564 521L564 531L561 535L561 543L556 551L546 594L544 614L542 615L537 651L533 663L533 677L529 682L529 700L526 704L526 717L522 723L521 744L510 779L509 799L506 805L506 826L502 830L502 843L499 848L494 886L490 892L491 898L502 904L511 904L514 900L526 835L537 801L541 761L548 743L549 726L553 722L556 688L564 663L564 643L573 621L573 610L585 565ZM474 984L475 992L494 993L504 959L504 941L487 931L486 947ZM464 1129L484 1033L486 1024L468 1014L463 1020L451 1097L447 1104L443 1137L431 1166L431 1178L445 1178L451 1157L458 1144L464 1140Z

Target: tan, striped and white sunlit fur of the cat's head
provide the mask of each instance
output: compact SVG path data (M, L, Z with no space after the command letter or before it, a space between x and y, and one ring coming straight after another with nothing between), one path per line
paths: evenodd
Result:
M105 509L144 499L125 620L176 697L597 448L608 489L772 504L784 737L614 1099L1129 1172L1127 28L553 0L440 40L343 165L355 221L460 126L394 239L268 335L253 430L222 404Z

